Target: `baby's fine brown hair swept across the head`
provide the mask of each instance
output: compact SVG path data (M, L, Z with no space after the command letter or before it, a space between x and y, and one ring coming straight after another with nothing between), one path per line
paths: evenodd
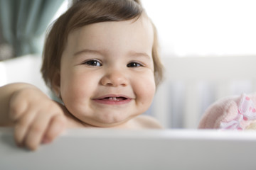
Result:
M68 11L63 13L48 30L43 49L41 73L46 85L54 90L60 82L54 82L60 72L60 60L70 31L92 23L106 21L127 21L139 18L144 13L139 0L76 0ZM154 77L156 85L163 77L163 66L158 54L156 28L154 29Z

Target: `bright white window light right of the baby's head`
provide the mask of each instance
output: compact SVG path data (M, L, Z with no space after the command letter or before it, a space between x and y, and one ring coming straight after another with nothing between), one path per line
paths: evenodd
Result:
M256 55L255 0L142 0L168 56Z

